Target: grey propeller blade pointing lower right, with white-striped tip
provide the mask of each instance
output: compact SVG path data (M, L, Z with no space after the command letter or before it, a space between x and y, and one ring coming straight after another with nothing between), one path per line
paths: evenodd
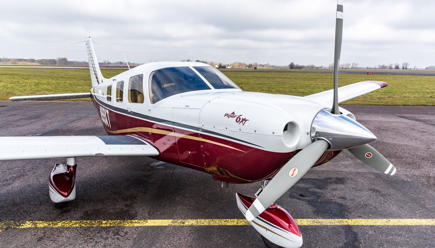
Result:
M367 165L377 169L380 172L384 172L388 175L394 175L396 168L387 160L384 156L376 151L368 144L360 145L354 148L348 149L355 157Z

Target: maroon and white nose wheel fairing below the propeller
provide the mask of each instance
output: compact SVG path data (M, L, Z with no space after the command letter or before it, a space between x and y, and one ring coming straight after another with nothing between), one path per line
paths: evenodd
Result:
M255 198L236 193L237 205L246 215ZM285 248L298 248L302 245L302 235L293 217L281 206L273 204L250 221L251 225L264 238Z

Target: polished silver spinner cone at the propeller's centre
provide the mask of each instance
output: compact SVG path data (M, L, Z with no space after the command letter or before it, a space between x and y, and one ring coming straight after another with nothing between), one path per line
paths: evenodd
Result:
M311 125L311 139L325 139L331 150L342 150L364 145L377 139L365 126L345 115L320 111Z

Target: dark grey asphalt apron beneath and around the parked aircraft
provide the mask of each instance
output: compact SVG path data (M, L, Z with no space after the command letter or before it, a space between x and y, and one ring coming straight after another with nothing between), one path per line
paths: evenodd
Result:
M302 247L435 247L435 107L344 107L397 173L348 151L311 169L277 201L308 219ZM105 135L92 103L0 102L0 116L0 136ZM211 175L147 157L78 158L77 198L57 209L47 179L62 161L0 162L0 247L265 247L235 199L258 183L223 189ZM147 220L160 224L134 225Z

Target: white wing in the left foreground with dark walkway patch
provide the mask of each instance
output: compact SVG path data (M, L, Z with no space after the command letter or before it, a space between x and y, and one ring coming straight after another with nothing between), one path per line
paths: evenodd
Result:
M153 145L130 135L0 137L0 161L157 155Z

